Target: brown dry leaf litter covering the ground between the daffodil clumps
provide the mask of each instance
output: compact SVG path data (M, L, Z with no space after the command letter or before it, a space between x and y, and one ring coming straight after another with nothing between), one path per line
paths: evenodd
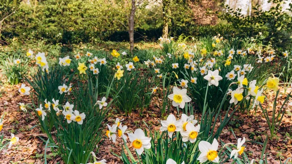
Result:
M46 140L46 134L42 133L37 126L38 119L35 112L31 111L31 114L29 114L19 109L19 102L32 103L30 96L19 94L19 87L20 84L2 84L0 86L0 115L4 114L1 133L4 134L4 138L9 138L11 133L19 137L19 142L16 145L0 151L0 164L43 164L45 143L41 138ZM281 93L284 92L283 87L280 87L280 90ZM291 92L291 90L291 88L288 88L286 92ZM270 106L270 109L272 109L275 93L269 92L267 94L269 103L265 101L263 107ZM285 96L278 98L277 109L283 104L284 100ZM292 102L290 101L284 109L285 114L277 136L273 140L269 140L265 151L269 164L280 164L279 160L284 161L292 157ZM176 111L171 112L176 113ZM272 116L272 111L269 110L269 114ZM194 115L195 118L201 118L200 113ZM128 131L134 131L136 128L146 128L142 120L151 129L158 130L160 128L160 110L154 101L152 101L150 109L144 111L142 116L138 112L126 116L126 114L113 111L105 122L112 125L116 117L124 119L122 124L128 126ZM236 137L232 134L231 129L235 132ZM106 130L106 127L104 130ZM267 121L262 116L261 109L258 108L249 111L249 113L236 112L229 124L223 129L219 139L224 143L237 143L237 138L244 136L247 140L245 152L250 159L259 160L263 146L257 144L257 142L264 143L266 134L269 135L269 133ZM113 153L121 153L121 140L117 140L113 144L105 135L103 140L103 144L98 145L99 151L95 152L97 157L106 159L107 164L122 164L122 161L113 155ZM128 146L132 150L129 143ZM47 154L48 164L64 164L61 157L52 153L51 149L47 149Z

